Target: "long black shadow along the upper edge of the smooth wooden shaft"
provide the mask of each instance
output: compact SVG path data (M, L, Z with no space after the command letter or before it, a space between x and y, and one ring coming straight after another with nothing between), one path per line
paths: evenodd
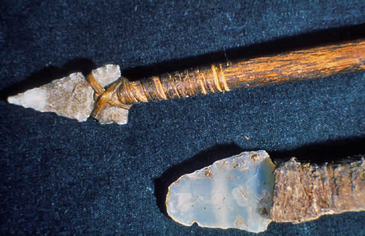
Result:
M170 60L149 66L135 67L124 70L123 76L129 80L137 80L151 75L165 72L184 70L201 64L212 64L233 61L237 59L250 59L259 56L276 55L284 52L319 47L327 44L340 43L365 38L365 24L350 27L330 28L312 31L310 33L280 38L268 42L252 44L247 47L228 48L192 58Z

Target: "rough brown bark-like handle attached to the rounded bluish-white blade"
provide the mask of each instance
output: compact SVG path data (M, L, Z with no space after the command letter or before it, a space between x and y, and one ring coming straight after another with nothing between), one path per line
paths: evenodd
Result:
M365 211L365 162L316 166L293 158L274 171L270 218L300 223L325 214Z

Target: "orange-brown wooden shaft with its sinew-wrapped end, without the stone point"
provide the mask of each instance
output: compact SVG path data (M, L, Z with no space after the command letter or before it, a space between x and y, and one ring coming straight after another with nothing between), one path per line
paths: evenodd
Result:
M130 105L365 70L365 40L216 63L129 81L118 98Z

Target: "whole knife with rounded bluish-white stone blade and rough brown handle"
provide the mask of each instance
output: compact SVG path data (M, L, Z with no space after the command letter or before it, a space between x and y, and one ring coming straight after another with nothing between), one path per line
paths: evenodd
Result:
M292 158L275 166L265 151L244 152L181 176L166 196L169 216L190 226L265 231L365 210L365 161L323 166Z

